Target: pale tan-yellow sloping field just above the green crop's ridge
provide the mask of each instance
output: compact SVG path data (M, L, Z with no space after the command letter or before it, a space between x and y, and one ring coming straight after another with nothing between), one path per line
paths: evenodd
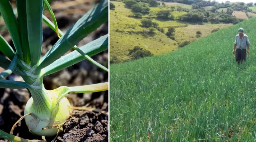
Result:
M223 29L233 24L205 24L205 25L189 25L187 27L175 28L175 41L195 41L198 38L196 37L196 31L200 31L202 33L201 37L205 37L209 34L212 34L213 29Z

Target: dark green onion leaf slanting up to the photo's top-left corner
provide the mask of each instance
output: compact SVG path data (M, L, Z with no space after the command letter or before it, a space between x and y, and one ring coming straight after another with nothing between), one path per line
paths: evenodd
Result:
M19 25L9 0L1 0L0 12L12 38L15 49L18 52L19 58L23 61Z

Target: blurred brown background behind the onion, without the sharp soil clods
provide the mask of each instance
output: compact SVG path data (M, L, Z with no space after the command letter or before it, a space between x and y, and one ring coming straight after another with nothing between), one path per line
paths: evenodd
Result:
M14 8L14 13L18 16L15 8L15 0L10 0L10 2ZM80 19L95 4L99 3L100 0L51 0L49 2L57 19L59 29L63 33L66 33L66 31L73 26L78 19ZM47 8L44 9L44 15L53 22ZM14 45L2 17L0 17L0 34L14 49ZM101 25L100 28L89 34L76 45L81 47L105 34L108 34L108 22ZM52 48L58 39L57 34L43 23L43 46L41 57L43 57L47 51ZM74 49L71 49L69 52L72 52L73 50ZM0 55L4 56L1 51ZM92 56L92 59L108 68L108 50ZM4 71L4 69L0 67L0 72L2 71ZM20 76L16 76L15 74L10 75L6 79L24 81ZM53 90L60 86L82 86L102 82L108 82L108 72L103 71L88 60L84 60L64 70L44 77L44 87L47 90ZM1 130L8 133L10 132L12 125L24 115L24 108L30 97L31 95L27 89L0 88ZM67 97L72 100L74 106L93 107L108 111L108 91L98 93L69 93ZM17 124L13 134L28 139L38 138L32 136L32 134L28 134L27 129L25 121L22 121Z

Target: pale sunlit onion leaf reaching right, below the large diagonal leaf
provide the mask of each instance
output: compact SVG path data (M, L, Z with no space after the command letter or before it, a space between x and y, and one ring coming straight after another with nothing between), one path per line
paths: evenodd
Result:
M107 50L108 34L80 47L79 49L81 49L88 56L93 56L104 50ZM60 71L83 60L84 56L82 56L77 51L73 51L65 56L62 56L60 59L56 60L55 62L44 68L41 76L46 76L56 71Z

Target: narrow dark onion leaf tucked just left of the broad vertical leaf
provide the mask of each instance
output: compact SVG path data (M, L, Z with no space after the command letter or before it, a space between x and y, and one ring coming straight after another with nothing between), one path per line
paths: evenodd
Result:
M20 26L21 45L24 62L30 63L30 50L28 44L28 26L27 26L27 12L26 12L26 1L16 0L18 19Z

